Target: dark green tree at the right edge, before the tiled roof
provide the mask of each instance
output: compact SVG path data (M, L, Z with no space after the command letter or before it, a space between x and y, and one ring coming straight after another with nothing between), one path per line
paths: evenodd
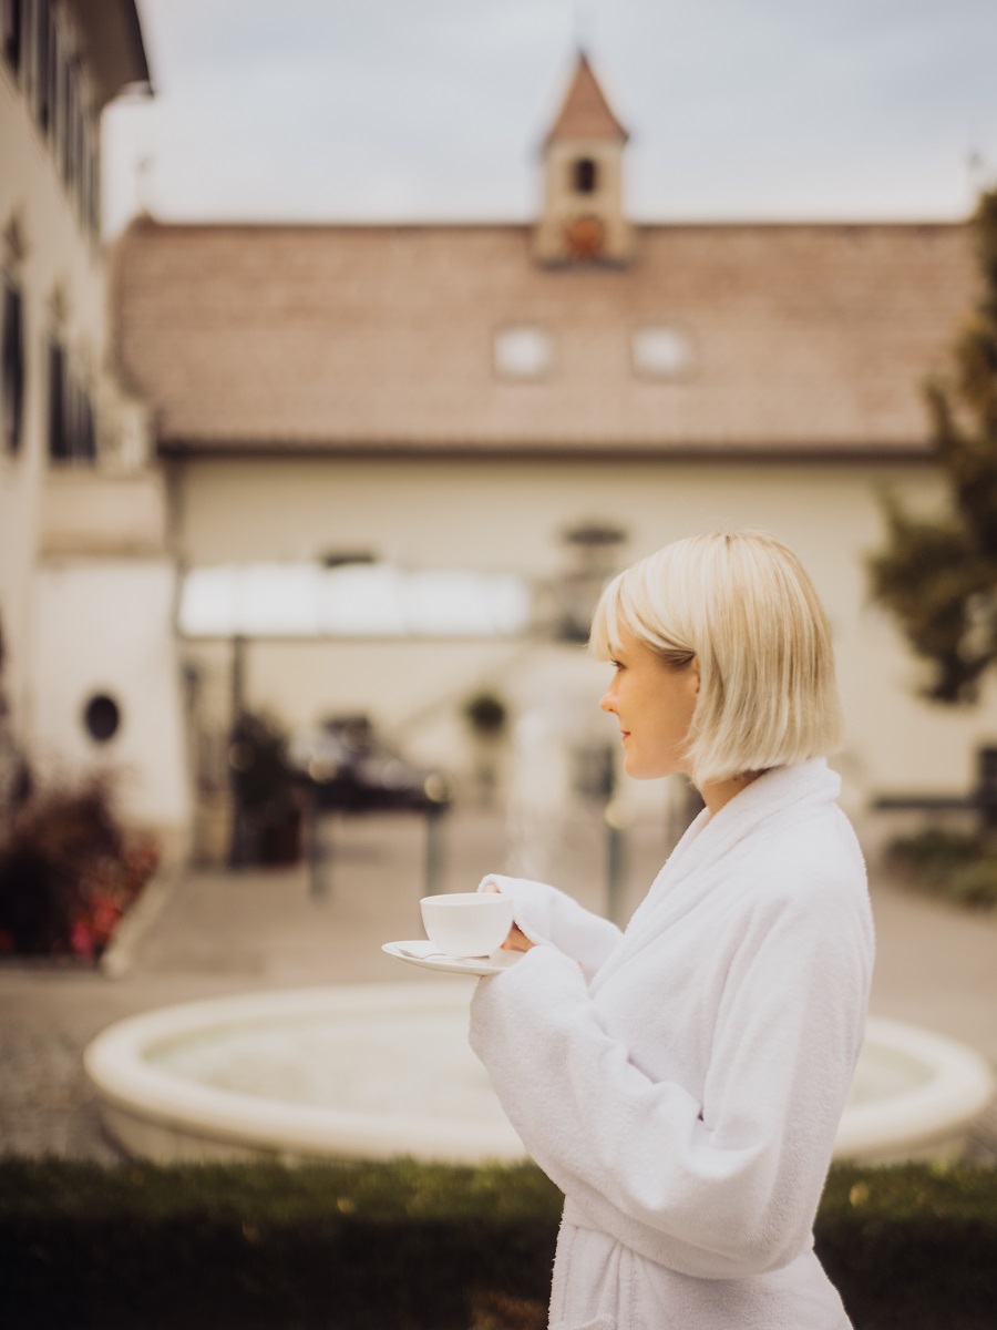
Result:
M869 559L873 598L929 665L925 697L976 701L997 665L997 189L972 219L981 297L953 346L952 371L925 384L948 496L935 517L884 500L887 543Z

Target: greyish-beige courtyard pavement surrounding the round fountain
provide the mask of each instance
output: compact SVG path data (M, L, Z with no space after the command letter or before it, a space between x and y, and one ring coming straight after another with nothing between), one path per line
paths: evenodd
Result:
M82 1051L124 1016L233 992L421 982L417 970L386 956L380 944L421 936L427 870L435 890L473 890L489 870L524 867L509 862L498 814L457 811L437 831L433 843L415 817L336 819L327 826L328 859L318 879L308 864L165 872L125 920L101 967L4 960L0 1149L106 1164L121 1158L101 1129ZM615 898L621 922L667 854L667 833L631 829L623 850ZM600 818L580 810L546 846L544 876L609 912L608 853ZM997 1067L997 912L965 912L913 895L869 858L879 948L872 1013L960 1039ZM997 1103L978 1123L969 1157L997 1161Z

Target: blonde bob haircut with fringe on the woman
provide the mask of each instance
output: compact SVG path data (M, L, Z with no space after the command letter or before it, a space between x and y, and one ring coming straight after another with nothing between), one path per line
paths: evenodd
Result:
M625 569L596 606L589 649L614 660L623 629L667 665L697 662L686 751L697 786L840 746L827 616L799 559L772 536L691 536Z

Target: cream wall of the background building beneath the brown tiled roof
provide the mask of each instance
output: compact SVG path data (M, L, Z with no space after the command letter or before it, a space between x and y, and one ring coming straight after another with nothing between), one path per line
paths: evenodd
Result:
M679 536L756 527L784 539L810 569L837 648L847 745L837 759L853 803L880 793L964 791L977 743L997 738L997 694L952 712L920 701L897 632L869 606L863 560L881 540L877 488L939 500L927 466L798 463L221 462L177 468L178 548L191 565L315 559L368 549L415 567L550 576L566 567L561 533L581 519L630 532L625 561ZM211 652L198 648L209 664ZM561 649L576 693L605 666ZM546 656L549 657L548 649ZM214 670L225 696L223 649ZM368 710L412 751L453 758L459 704L480 684L528 706L544 653L514 642L255 644L247 697L290 726Z

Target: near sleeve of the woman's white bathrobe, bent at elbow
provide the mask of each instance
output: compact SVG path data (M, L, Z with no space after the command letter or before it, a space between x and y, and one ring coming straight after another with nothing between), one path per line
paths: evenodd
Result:
M709 1049L701 1095L637 1065L553 947L479 982L472 1047L565 1193L566 1220L701 1278L772 1270L807 1249L871 964L861 911L832 886L766 887L717 939L726 959L705 990L713 1008L702 1028L674 1032ZM634 962L645 979L653 947Z

